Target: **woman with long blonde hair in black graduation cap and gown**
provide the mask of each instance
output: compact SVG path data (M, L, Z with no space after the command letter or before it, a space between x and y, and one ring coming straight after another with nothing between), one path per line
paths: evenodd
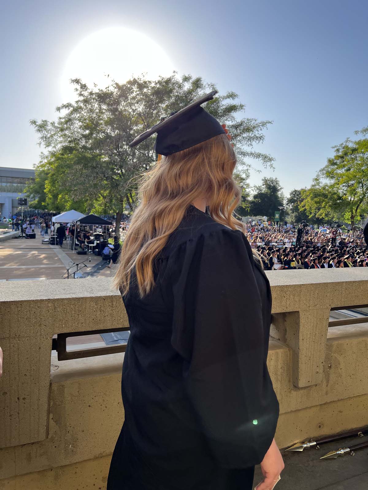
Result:
M115 276L131 329L107 490L269 490L284 464L266 359L271 293L244 225L227 130L200 105L157 132Z

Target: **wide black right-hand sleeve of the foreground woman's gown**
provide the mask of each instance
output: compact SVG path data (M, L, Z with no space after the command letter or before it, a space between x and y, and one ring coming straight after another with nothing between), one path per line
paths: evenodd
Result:
M266 365L266 306L251 261L244 235L223 228L188 241L173 257L171 343L184 358L201 431L225 468L259 464L279 415Z

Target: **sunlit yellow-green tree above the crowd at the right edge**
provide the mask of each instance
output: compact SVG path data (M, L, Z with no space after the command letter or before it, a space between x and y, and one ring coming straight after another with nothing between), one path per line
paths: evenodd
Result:
M353 227L368 209L368 139L347 138L333 149L335 155L327 159L311 188L302 192L301 209L330 221L343 217Z

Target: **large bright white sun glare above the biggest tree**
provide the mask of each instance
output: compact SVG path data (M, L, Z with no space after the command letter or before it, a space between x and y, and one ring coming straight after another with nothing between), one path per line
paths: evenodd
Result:
M155 79L173 70L165 51L149 37L125 27L109 27L84 38L70 54L61 77L62 101L76 98L71 78L105 88L109 84L107 74L123 83L131 75L147 73L149 79Z

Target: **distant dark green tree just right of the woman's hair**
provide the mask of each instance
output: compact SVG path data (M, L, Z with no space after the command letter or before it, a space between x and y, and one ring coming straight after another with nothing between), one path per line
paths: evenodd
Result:
M252 216L267 216L273 221L275 211L284 206L285 197L279 179L263 177L262 185L255 186L254 194L249 202L249 212Z

